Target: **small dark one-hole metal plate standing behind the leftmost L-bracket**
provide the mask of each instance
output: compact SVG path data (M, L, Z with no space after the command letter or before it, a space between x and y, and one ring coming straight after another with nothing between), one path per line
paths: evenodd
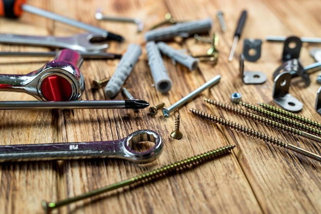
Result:
M243 55L248 61L256 61L261 56L262 39L244 39Z

